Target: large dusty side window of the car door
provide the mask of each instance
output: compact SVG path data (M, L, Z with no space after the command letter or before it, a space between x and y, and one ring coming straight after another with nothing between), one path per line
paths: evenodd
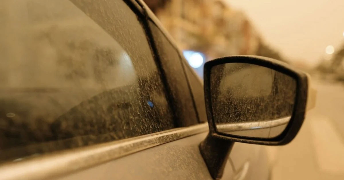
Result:
M123 1L1 1L0 160L176 127Z

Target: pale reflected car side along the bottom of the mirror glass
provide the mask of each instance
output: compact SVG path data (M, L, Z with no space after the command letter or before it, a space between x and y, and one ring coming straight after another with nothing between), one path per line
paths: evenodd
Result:
M286 116L275 120L216 124L216 129L220 133L236 136L274 138L283 132L290 118L291 116Z

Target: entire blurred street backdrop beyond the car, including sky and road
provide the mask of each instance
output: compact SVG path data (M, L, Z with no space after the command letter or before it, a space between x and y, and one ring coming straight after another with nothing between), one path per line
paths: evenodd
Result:
M344 1L145 0L197 74L217 57L271 57L317 90L297 137L265 147L272 180L344 179Z

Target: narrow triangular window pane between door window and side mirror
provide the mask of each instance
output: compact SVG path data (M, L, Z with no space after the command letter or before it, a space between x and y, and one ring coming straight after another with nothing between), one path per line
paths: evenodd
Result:
M181 56L152 21L149 21L149 27L166 75L167 85L173 100L173 108L177 116L176 121L179 126L197 124L199 122L198 114L183 70Z

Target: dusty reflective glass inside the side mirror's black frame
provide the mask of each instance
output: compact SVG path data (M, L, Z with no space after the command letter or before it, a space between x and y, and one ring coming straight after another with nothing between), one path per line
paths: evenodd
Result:
M248 63L213 66L210 75L215 127L229 135L274 138L293 112L296 80Z

